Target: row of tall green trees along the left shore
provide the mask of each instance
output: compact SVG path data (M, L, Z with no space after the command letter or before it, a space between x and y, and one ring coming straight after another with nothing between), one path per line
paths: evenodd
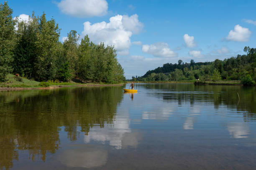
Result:
M32 13L28 21L12 14L7 2L0 4L0 81L10 72L36 81L125 80L113 46L94 44L87 35L79 41L75 30L61 43L59 25L45 13Z

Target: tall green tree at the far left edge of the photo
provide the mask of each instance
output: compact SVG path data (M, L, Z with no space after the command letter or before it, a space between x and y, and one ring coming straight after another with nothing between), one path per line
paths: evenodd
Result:
M13 10L7 2L0 3L0 81L5 80L6 74L13 70L14 26L16 21L13 20L12 14Z

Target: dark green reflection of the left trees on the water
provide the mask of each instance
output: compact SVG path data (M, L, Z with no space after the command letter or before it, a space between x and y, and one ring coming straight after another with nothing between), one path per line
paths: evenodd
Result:
M54 154L60 127L75 141L78 126L88 134L95 125L112 124L122 92L116 87L14 91L1 92L0 100L0 169L9 169L17 150L28 150L32 161Z

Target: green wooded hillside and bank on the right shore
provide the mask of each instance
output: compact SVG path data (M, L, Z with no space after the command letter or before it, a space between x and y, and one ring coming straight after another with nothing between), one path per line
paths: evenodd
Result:
M184 81L196 84L240 84L255 85L256 49L245 47L246 55L237 55L225 60L213 62L166 63L163 67L149 70L141 77L132 77L132 81ZM231 81L231 82L230 82ZM235 81L235 82L232 82Z

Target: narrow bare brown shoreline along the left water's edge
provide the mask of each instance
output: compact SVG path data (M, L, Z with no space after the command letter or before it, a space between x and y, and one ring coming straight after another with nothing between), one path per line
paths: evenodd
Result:
M85 85L52 85L49 87L0 87L0 91L15 91L15 90L51 90L61 87L97 87L97 86L122 86L121 84L85 84Z

